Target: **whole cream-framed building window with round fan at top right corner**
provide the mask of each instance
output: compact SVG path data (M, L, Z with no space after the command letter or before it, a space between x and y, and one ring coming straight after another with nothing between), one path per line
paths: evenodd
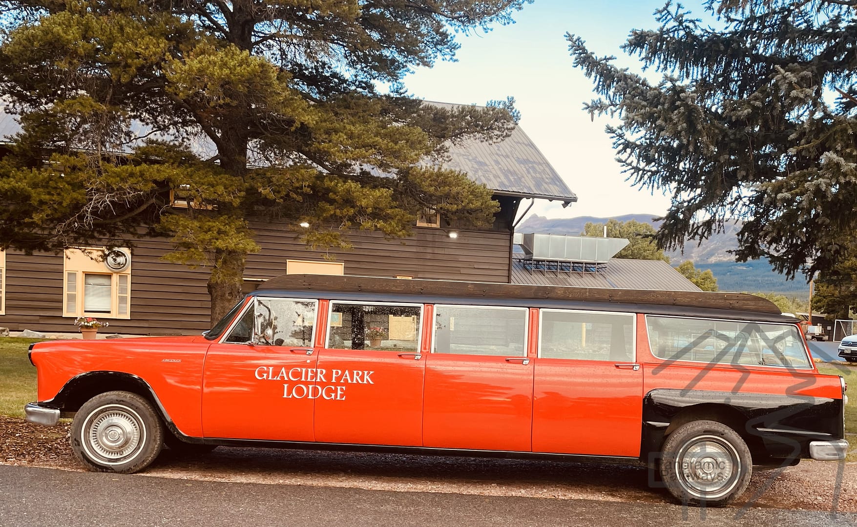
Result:
M128 249L118 252L130 255ZM131 266L118 266L105 249L66 249L63 316L130 318ZM121 269L120 272L113 269Z

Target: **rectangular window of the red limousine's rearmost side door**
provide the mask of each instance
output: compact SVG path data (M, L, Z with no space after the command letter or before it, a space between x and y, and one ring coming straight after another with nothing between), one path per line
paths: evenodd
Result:
M634 314L542 309L539 356L632 361Z

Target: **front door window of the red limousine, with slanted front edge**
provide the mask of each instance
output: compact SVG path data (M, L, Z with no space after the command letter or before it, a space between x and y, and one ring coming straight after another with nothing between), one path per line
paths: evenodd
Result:
M317 304L315 300L255 298L225 342L311 347Z

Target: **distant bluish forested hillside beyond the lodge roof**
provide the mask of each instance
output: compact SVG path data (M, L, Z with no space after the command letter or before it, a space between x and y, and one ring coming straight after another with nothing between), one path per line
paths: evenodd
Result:
M657 228L658 222L650 214L625 214L614 218L595 218L580 216L578 218L548 219L533 215L518 225L517 232L542 232L550 234L566 234L579 236L587 222L607 223L608 219L619 221L635 220L647 222ZM690 260L700 270L710 269L717 278L717 286L722 291L750 291L782 293L787 296L809 296L809 286L806 279L799 275L794 280L787 280L770 268L766 260L738 263L728 251L735 249L735 235L740 225L727 225L726 231L705 240L701 245L690 241L686 243L684 254L680 252L667 253L673 266L682 261Z

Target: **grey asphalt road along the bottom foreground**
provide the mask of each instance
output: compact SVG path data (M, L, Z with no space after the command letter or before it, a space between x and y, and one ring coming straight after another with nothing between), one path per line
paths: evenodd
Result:
M198 482L0 465L0 527L855 524L857 514Z

